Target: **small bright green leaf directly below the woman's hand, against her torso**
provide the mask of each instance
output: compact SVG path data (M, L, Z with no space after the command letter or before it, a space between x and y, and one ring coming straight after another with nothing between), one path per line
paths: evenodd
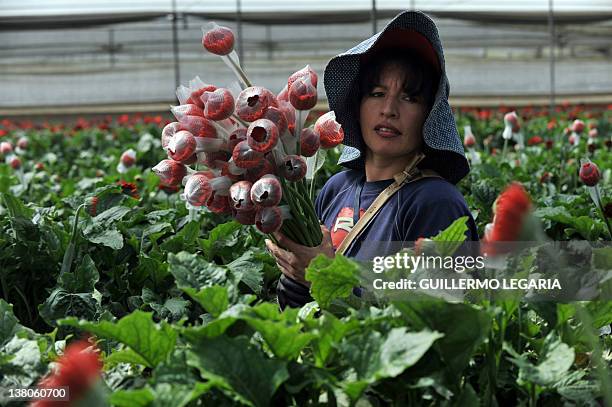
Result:
M333 259L318 255L306 268L306 280L312 283L312 297L321 308L328 308L337 298L346 298L359 285L359 266L342 255Z

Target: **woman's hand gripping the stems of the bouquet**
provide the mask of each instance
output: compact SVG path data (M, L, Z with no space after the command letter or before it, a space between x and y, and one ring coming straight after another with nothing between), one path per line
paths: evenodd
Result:
M284 275L292 278L298 283L310 287L310 282L306 281L305 278L306 267L308 267L310 261L319 254L324 254L327 257L335 256L329 230L324 225L321 225L321 232L323 233L323 240L321 244L316 247L297 244L280 232L275 232L273 236L276 238L279 245L286 247L287 250L281 249L269 239L266 239L266 247L276 260L278 268Z

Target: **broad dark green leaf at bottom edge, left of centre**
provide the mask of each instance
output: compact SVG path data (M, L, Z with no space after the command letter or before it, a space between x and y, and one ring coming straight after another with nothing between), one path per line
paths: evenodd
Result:
M286 362L267 359L243 336L191 343L187 363L234 400L253 406L271 405L278 387L289 378Z

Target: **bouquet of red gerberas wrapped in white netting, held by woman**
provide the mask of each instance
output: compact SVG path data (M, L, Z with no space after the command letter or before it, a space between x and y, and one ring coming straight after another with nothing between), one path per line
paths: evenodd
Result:
M306 66L274 95L252 85L240 68L229 28L211 23L203 33L204 48L223 59L241 90L198 77L180 86L181 104L171 109L177 121L162 131L168 159L153 171L166 185L182 183L190 208L232 214L263 233L280 230L297 243L319 245L312 181L308 188L304 178L316 171L319 150L340 144L344 132L333 112L303 128L317 102L317 74Z

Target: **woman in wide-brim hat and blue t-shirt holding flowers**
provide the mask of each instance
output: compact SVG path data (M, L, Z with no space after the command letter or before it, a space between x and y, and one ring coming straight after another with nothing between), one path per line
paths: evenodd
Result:
M336 251L359 260L397 252L468 216L454 186L468 172L452 111L442 45L434 22L403 12L380 33L334 57L324 75L330 110L345 132L339 164L315 202L323 242L305 247L276 234L266 241L283 275L281 307L311 301L304 270ZM359 221L359 223L357 223Z

